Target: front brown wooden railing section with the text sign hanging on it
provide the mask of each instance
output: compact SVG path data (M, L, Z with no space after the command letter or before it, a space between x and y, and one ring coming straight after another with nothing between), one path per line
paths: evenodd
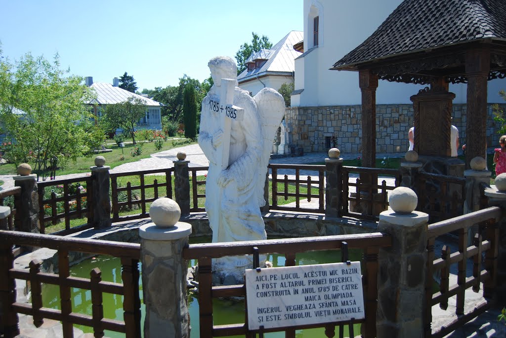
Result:
M344 326L353 327L354 323L362 323L363 337L376 336L376 308L377 308L377 271L379 248L390 247L392 239L389 235L376 233L339 235L325 237L305 238L284 238L268 239L262 241L249 241L237 243L213 243L213 244L192 244L183 250L183 257L187 260L198 260L199 274L199 318L200 337L218 337L230 335L251 336L255 331L248 330L246 323L235 323L227 325L213 324L213 299L220 297L244 297L246 289L244 284L213 286L212 285L212 259L224 256L251 255L254 247L258 253L279 253L284 254L285 266L296 265L296 254L307 251L319 250L341 250L342 243L348 243L348 248L362 249L363 255L363 290L365 319L351 322L334 322L327 324L316 324L298 327L283 327L269 331L285 331L286 337L295 337L295 329L310 327L325 327L327 337L333 337L335 326L339 328L339 336L343 336ZM336 258L338 254L336 254ZM339 259L336 259L338 262ZM246 309L245 309L246 310ZM246 316L247 318L247 316ZM247 321L247 319L246 319ZM353 328L350 332L353 332Z

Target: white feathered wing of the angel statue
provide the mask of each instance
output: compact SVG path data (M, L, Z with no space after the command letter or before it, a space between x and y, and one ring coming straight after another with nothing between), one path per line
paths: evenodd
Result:
M276 137L279 124L283 120L285 113L285 103L283 96L272 88L264 88L260 90L253 98L257 104L260 115L260 123L262 125L262 134L264 136L264 147L261 156L261 170L259 170L259 182L265 182L267 174L267 166L272 151L272 142ZM264 201L264 184L259 184L257 196L261 206L265 205Z

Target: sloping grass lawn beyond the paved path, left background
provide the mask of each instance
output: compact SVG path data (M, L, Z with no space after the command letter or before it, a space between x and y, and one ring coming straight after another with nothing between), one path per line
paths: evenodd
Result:
M80 157L76 162L70 161L63 169L59 169L56 171L56 175L67 175L67 174L76 174L76 173L84 173L90 172L90 167L95 165L95 157L97 155L102 155L105 158L106 165L110 166L111 169L121 165L123 163L135 162L140 159L145 159L150 157L151 154L161 152L164 150L169 150L172 148L177 148L181 146L173 146L172 140L167 140L163 143L163 147L160 150L155 150L154 142L142 142L139 144L143 144L142 146L142 154L136 157L132 157L130 155L130 151L134 148L133 144L125 144L125 148L121 150L116 143L108 145L108 149L112 149L111 153L102 153L102 154L94 154L89 157ZM192 144L192 143L189 143ZM120 160L121 156L124 157L124 160ZM4 164L0 167L1 175L15 175L16 167L14 164Z

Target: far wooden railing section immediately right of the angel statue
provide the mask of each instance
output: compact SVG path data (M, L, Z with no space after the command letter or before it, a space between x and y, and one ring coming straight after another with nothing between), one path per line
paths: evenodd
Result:
M286 211L303 211L325 213L325 166L324 165L303 165L303 164L269 164L269 169L272 170L272 205L269 210L286 210ZM291 170L293 171L289 178L288 174L278 175L278 170ZM311 175L301 175L301 170L313 172ZM279 176L282 178L280 179ZM317 180L314 179L317 176ZM283 190L278 190L278 183L283 185ZM295 192L288 192L290 185L294 185ZM306 192L301 192L301 187ZM313 194L313 189L317 190L317 194ZM295 206L279 206L278 197L295 198ZM311 202L312 199L318 199L318 208L301 207L301 200Z

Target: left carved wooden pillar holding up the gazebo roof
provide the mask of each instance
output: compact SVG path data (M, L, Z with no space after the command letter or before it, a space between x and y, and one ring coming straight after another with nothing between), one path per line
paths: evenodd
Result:
M369 69L358 72L362 91L362 166L376 166L376 88L378 77Z

